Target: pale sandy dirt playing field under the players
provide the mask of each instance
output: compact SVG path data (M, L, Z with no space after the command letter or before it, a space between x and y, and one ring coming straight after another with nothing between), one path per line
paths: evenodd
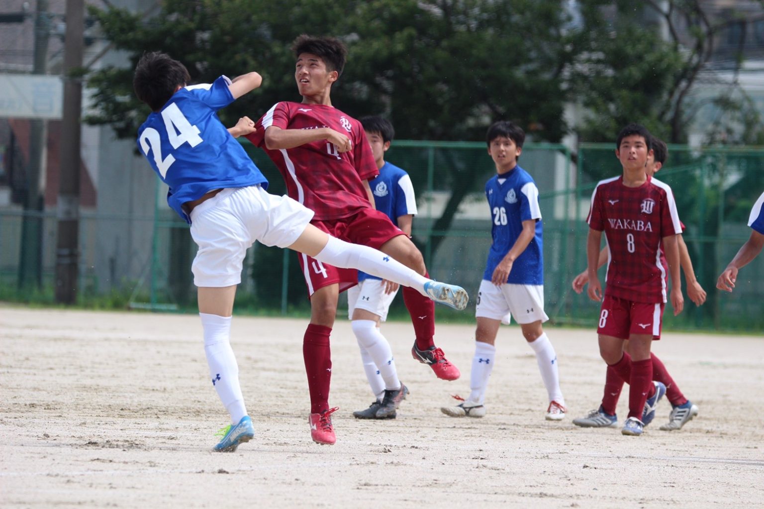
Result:
M396 420L371 403L348 322L332 333L337 444L312 443L302 360L306 320L239 318L232 344L255 438L210 452L228 424L206 369L198 316L0 306L0 507L762 507L764 338L668 333L654 352L700 415L641 437L573 426L597 407L593 331L549 327L569 417L546 394L520 330L503 328L487 416L439 407L466 396L473 326L439 326L461 368L413 361L408 323L387 323L411 394ZM618 407L626 417L627 397Z

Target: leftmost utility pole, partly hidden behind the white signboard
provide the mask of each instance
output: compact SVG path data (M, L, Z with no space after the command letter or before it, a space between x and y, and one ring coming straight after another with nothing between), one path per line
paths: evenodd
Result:
M47 48L50 38L48 0L37 0L34 15L33 74L47 71ZM46 121L33 118L29 131L29 162L27 165L27 193L24 196L24 217L21 222L21 256L18 264L18 287L36 287L42 284L42 238L44 199L40 195L40 173L46 147Z

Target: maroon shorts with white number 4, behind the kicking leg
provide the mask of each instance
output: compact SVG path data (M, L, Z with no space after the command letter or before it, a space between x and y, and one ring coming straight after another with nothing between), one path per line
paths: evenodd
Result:
M353 244L367 245L379 249L390 238L406 235L403 230L393 225L390 218L376 209L362 209L353 216L336 220L313 220L310 224L319 230ZM308 295L330 284L339 284L339 290L345 291L358 284L358 271L337 268L322 264L307 254L297 253L299 266L303 269Z

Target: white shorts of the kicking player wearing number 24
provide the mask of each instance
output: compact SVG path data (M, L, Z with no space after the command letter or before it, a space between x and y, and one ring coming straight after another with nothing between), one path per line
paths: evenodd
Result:
M244 254L255 241L286 248L302 235L313 211L289 196L261 186L222 190L191 211L191 237L199 251L193 260L197 287L241 283Z

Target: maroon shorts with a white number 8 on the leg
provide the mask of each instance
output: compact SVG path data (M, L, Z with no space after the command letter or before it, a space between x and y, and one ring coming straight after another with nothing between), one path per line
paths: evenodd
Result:
M652 339L661 339L664 307L663 303L633 302L606 294L597 333L620 339L629 339L632 334L652 334Z

